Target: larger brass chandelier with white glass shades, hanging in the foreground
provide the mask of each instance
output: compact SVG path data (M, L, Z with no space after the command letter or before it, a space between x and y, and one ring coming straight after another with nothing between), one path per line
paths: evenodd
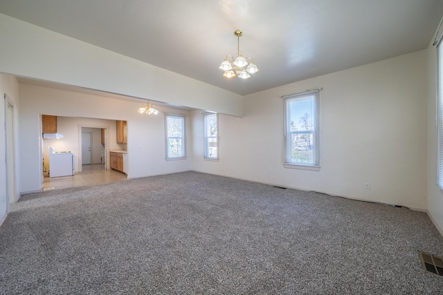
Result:
M241 30L236 30L234 35L237 37L238 56L234 59L232 55L226 55L226 58L220 64L219 69L224 70L223 77L233 78L237 76L242 79L248 79L251 77L251 74L257 73L259 69L254 64L252 57L244 58L240 51L240 37L242 37L243 32ZM228 57L230 57L232 61L228 61ZM251 63L248 64L246 59L251 59Z

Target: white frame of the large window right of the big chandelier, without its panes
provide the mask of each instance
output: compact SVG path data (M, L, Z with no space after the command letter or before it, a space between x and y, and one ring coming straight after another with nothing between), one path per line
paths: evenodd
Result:
M320 171L320 89L305 91L293 95L282 96L284 99L284 159L283 166L291 169L304 169ZM290 104L291 102L302 101L313 97L314 99L314 130L311 131L291 131ZM291 134L312 133L313 135L313 163L291 162Z

